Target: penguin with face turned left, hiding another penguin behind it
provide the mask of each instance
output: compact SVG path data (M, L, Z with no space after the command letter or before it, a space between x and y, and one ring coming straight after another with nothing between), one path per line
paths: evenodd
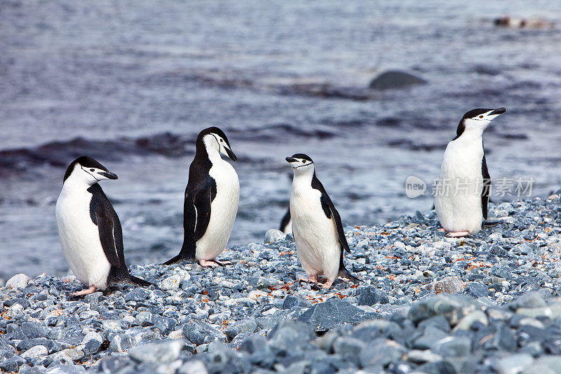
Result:
M286 157L294 178L290 194L290 216L296 252L309 279L318 283L318 275L327 281L321 286L330 288L337 276L360 281L343 263L344 251L351 252L346 241L339 212L316 177L313 161L306 154Z

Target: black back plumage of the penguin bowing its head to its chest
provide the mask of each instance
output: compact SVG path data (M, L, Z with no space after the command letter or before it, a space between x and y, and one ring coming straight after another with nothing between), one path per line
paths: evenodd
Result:
M164 262L165 265L175 264L181 260L194 260L196 242L203 237L208 227L210 204L216 197L216 181L209 174L212 163L203 143L203 137L210 133L220 135L229 146L226 135L217 127L205 128L198 134L195 158L189 166L189 180L185 187L183 245L179 255Z

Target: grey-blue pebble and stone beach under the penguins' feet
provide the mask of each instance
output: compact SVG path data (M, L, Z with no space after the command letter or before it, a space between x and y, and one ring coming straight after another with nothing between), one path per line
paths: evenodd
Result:
M225 251L234 265L132 266L123 285L69 300L74 276L0 288L0 370L19 373L561 373L561 190L489 205L499 225L437 232L433 211L346 227L330 290L291 236Z

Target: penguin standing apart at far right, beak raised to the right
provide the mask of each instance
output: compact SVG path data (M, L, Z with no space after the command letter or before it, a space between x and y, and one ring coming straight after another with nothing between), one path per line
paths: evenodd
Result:
M444 152L436 181L435 211L448 236L461 237L480 231L487 219L491 176L483 147L483 131L505 108L472 109L461 119L456 138Z

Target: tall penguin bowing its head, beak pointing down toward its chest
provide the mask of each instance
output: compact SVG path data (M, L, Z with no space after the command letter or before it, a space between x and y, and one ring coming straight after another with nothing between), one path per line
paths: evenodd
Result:
M209 127L198 134L185 189L183 245L180 253L164 265L182 260L196 260L202 267L229 265L216 257L230 239L238 213L240 182L234 167L222 159L221 153L237 160L222 130Z

